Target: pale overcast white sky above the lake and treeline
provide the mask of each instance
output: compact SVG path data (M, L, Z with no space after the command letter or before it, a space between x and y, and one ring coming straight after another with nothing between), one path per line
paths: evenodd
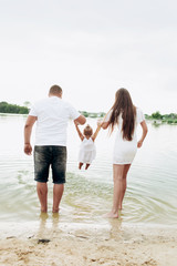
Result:
M0 0L0 102L51 85L75 109L107 112L126 88L144 113L177 113L176 0Z

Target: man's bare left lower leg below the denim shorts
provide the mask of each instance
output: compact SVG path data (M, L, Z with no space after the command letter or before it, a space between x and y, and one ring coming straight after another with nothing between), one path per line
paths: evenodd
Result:
M41 203L41 212L46 213L48 212L48 184L37 182L37 192Z

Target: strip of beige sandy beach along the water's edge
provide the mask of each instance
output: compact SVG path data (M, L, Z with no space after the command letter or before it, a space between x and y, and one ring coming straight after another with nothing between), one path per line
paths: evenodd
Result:
M111 221L110 228L42 224L38 231L12 232L0 239L0 265L177 265L177 229L171 227Z

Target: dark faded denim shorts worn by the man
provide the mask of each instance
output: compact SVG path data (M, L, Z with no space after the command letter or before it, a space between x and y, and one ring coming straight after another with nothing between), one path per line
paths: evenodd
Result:
M65 183L65 146L34 146L34 180L46 183L49 181L50 166L52 168L53 183Z

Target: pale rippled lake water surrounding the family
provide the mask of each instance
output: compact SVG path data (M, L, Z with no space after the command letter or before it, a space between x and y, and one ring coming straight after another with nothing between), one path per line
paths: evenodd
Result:
M40 206L33 181L33 157L23 153L27 116L0 115L0 219L1 224L39 223ZM96 120L88 119L93 129ZM81 129L83 129L81 126ZM126 225L177 224L177 126L148 123L148 135L127 178L121 222ZM140 127L138 129L138 135ZM80 139L72 122L67 127L67 175L60 223L106 226L112 207L112 153L114 134L101 130L96 160L87 171L77 168ZM32 134L34 143L34 129ZM52 223L52 182L49 182L49 216Z

